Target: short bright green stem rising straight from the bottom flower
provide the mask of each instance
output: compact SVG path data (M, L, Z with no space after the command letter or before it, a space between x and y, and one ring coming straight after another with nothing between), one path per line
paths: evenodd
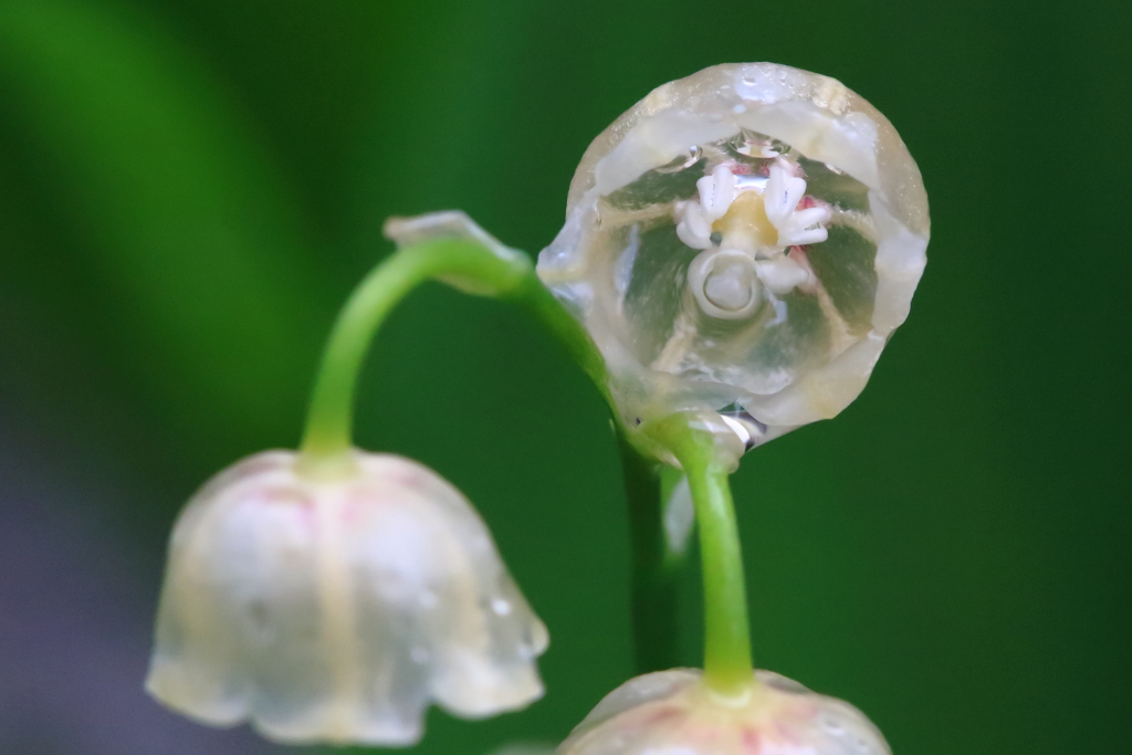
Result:
M720 456L712 432L689 427L687 417L660 420L645 431L676 456L692 489L703 559L704 681L720 694L740 694L753 666L729 460Z

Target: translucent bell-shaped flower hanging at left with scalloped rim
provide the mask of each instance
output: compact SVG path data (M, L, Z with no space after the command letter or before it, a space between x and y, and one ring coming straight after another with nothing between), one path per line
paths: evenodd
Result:
M273 451L214 478L173 530L146 688L289 743L406 745L430 701L465 718L542 694L547 630L458 490L354 452L341 479Z

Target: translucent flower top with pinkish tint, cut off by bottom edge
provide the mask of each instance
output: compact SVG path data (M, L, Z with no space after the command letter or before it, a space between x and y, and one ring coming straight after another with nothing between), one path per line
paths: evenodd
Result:
M675 669L626 681L602 700L558 755L891 755L849 703L756 671L741 698L720 698L701 672Z

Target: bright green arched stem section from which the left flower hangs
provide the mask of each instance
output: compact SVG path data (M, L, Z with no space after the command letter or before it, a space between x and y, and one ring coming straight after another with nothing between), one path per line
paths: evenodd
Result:
M354 392L369 344L389 311L429 280L523 306L566 345L608 400L601 355L585 329L539 281L528 257L521 252L496 254L461 238L426 241L405 247L377 265L338 315L307 414L301 452L308 462L320 466L349 464Z

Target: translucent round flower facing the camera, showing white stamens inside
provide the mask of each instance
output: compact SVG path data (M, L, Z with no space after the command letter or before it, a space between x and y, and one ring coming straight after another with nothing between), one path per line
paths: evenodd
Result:
M590 145L566 213L539 275L604 355L623 423L717 411L748 446L860 393L928 240L892 125L774 63L653 91Z

